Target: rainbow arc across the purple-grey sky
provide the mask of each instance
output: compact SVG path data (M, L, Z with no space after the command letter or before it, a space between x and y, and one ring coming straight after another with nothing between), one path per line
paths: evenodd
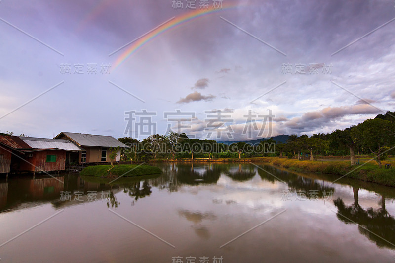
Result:
M129 46L125 48L125 50L119 55L114 63L112 63L112 69L116 69L119 65L121 65L125 60L127 60L132 54L134 54L137 50L147 44L149 41L157 38L159 35L168 32L170 29L178 28L188 22L191 22L195 19L198 19L204 15L213 14L216 12L224 11L226 9L230 9L233 7L238 7L236 4L225 4L226 1L222 3L222 9L196 9L190 12L187 12L179 17L176 17L167 23L161 24L159 27L155 28L155 30L149 32L146 35L143 35L141 38L138 38L136 41L131 43ZM198 7L197 7L198 8ZM115 53L115 52L113 52Z

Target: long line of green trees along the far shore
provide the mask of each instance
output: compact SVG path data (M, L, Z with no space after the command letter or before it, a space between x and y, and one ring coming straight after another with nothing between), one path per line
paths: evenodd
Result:
M350 155L351 165L356 164L357 155L374 155L379 167L388 154L395 154L395 112L379 114L349 128L337 129L327 134L308 136L290 135L286 143L273 138L259 143L237 142L218 143L215 140L188 138L185 133L169 132L167 135L154 134L142 141L123 137L118 140L129 146L123 152L125 160L135 162L151 158L230 158L278 156L302 159L308 154L345 156ZM304 156L304 155L303 155ZM304 159L304 158L303 158Z

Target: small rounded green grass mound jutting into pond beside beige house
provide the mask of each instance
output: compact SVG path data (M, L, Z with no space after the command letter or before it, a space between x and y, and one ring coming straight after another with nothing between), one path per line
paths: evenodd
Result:
M118 177L118 176L138 176L148 174L160 174L162 170L150 165L119 164L114 165L95 165L85 167L80 175L97 177Z

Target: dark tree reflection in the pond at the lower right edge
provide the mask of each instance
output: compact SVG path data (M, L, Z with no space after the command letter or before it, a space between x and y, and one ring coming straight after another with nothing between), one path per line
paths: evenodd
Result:
M337 218L345 224L357 224L358 230L378 247L395 249L395 219L385 208L382 196L381 208L363 209L358 202L358 188L353 187L354 203L347 206L341 198L333 201L338 208Z

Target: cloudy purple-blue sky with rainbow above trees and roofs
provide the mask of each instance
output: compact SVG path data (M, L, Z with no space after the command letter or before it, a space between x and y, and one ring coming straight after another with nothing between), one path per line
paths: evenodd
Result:
M137 137L152 117L143 139L184 118L197 138L241 140L394 111L393 0L181 2L1 0L0 132Z

